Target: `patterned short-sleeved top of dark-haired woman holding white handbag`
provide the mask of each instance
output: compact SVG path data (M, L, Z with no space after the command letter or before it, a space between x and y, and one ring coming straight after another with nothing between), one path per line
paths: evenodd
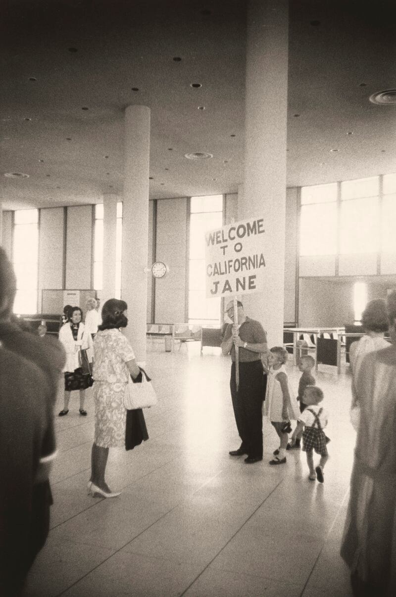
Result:
M95 381L107 383L126 383L129 377L125 363L135 358L128 339L120 330L99 330L94 338L94 370Z

